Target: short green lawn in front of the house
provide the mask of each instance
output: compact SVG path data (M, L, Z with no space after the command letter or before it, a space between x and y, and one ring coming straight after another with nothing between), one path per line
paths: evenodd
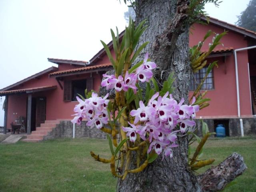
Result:
M215 165L232 152L244 156L248 169L225 192L256 191L256 139L209 140L205 158L216 158ZM106 140L60 139L40 143L0 144L1 192L112 192L116 179L109 164L90 157L90 150L109 156Z

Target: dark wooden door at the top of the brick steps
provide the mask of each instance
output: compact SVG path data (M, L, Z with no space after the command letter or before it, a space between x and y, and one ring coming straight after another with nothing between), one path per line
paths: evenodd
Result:
M36 127L40 127L41 123L46 120L46 98L36 98Z

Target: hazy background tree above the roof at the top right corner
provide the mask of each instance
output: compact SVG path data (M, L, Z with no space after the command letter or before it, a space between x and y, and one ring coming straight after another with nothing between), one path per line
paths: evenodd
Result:
M240 16L236 24L240 27L256 31L256 0L251 0Z

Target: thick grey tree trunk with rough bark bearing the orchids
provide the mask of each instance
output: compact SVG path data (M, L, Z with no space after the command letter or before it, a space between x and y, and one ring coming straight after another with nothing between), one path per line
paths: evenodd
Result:
M180 3L182 1L179 1ZM176 100L184 97L188 102L188 83L190 80L190 64L188 60L188 29L184 25L186 15L177 10L187 8L188 1L182 4L177 0L140 0L137 2L136 22L147 19L148 28L142 34L138 46L149 41L138 60L142 60L146 52L156 62L154 76L161 83L174 71L176 87L173 95ZM179 16L177 16L177 12ZM170 33L171 31L171 33ZM162 77L162 79L161 79ZM159 156L152 164L140 173L128 174L125 180L118 180L118 192L169 192L169 191L201 191L196 176L188 170L188 140L179 138L174 148L174 158ZM132 154L136 156L136 154ZM132 158L136 159L136 158ZM136 168L131 162L131 169Z

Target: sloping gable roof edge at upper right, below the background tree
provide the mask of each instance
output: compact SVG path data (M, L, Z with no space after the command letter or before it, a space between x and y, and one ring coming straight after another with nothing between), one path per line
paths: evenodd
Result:
M250 38L256 39L256 32L254 32L254 31L251 31L251 30L248 30L246 28L239 27L239 26L236 26L236 25L224 22L222 20L218 20L218 19L213 18L213 17L209 17L208 16L208 18L209 19L207 19L206 17L202 16L201 20L204 21L204 22L208 22L209 21L210 24L213 24L213 25L222 27L224 29L227 29L227 30L230 30L230 31L233 31L233 32L237 32L237 33L240 33L242 35L248 36Z

